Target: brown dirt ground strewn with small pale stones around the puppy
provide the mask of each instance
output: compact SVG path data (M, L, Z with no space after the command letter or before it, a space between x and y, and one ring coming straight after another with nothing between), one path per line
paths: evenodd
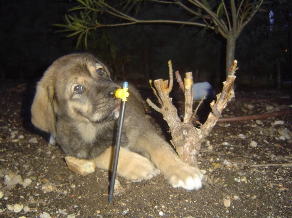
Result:
M141 183L118 177L121 187L109 204L109 173L73 173L30 123L34 85L0 87L0 218L292 217L291 114L218 122L201 146L199 191L172 188L163 175ZM291 90L238 89L223 117L289 109Z

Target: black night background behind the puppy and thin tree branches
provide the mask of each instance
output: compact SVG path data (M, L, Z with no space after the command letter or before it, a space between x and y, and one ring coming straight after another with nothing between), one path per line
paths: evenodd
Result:
M80 52L76 38L66 38L53 26L64 23L64 14L72 7L69 0L0 0L0 73L1 79L27 80L42 76L58 57ZM237 83L271 85L276 60L283 81L292 80L292 2L262 8L274 12L271 25L268 12L257 12L237 39ZM176 8L152 5L143 8L139 17L183 20ZM178 25L132 25L101 29L89 50L105 61L114 77L147 83L149 78L166 79L167 61L182 74L192 71L195 82L219 84L225 75L226 40L213 31L203 36L200 28ZM114 50L115 59L110 57ZM127 58L126 58L127 57ZM115 66L115 67L114 67ZM118 66L118 67L117 67ZM120 67L123 66L123 67ZM119 70L123 68L123 70Z

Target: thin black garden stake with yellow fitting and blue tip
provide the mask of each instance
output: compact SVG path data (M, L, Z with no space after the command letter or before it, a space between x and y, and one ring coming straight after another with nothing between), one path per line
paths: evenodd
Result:
M116 178L116 174L117 174L120 144L121 144L123 123L124 123L124 117L125 117L126 101L127 101L127 97L129 96L128 82L124 82L123 89L118 89L115 92L115 96L116 96L116 98L122 99L122 105L121 105L121 110L120 110L120 122L119 122L118 135L117 135L117 140L116 140L116 148L115 148L115 152L114 152L114 159L113 159L113 166L112 166L112 173L111 173L111 180L110 180L109 203L112 203L114 183L115 183L115 178Z

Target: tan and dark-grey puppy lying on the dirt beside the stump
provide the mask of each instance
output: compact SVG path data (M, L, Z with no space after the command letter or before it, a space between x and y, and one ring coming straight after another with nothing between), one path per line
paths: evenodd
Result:
M32 123L51 133L66 156L111 170L121 100L109 69L87 53L57 59L37 84ZM146 120L142 98L129 87L117 174L139 182L160 171L173 187L201 188L198 168L183 163Z

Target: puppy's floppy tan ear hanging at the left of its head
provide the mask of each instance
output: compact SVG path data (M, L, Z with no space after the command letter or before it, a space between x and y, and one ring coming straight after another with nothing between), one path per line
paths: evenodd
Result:
M48 69L37 84L37 92L31 108L32 123L39 129L56 134L54 72Z

